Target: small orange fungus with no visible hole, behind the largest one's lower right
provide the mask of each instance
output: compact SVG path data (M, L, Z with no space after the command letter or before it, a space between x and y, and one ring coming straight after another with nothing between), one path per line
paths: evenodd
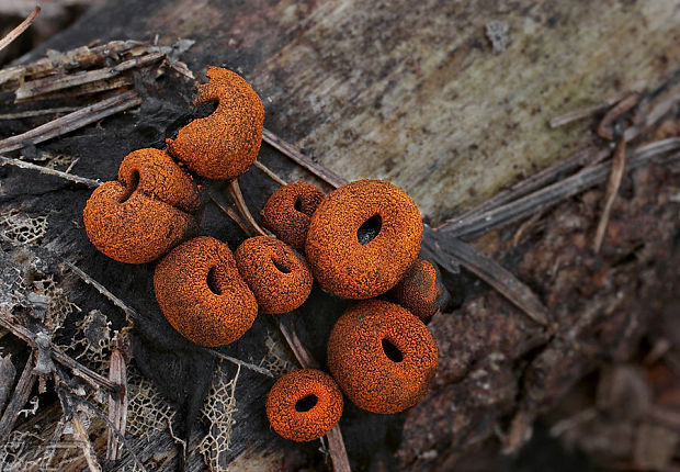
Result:
M437 313L443 290L437 268L427 260L416 259L392 293L401 306L426 319Z

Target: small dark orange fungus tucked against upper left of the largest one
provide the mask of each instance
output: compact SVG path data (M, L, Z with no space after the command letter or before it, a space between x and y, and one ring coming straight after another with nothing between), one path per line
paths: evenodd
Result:
M280 187L264 203L262 223L279 239L304 252L309 220L321 200L324 192L307 182Z

